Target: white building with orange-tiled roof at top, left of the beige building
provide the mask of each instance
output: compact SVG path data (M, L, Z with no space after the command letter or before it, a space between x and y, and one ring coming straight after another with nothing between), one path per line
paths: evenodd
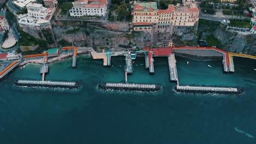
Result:
M79 0L72 4L71 16L105 16L107 13L107 0Z

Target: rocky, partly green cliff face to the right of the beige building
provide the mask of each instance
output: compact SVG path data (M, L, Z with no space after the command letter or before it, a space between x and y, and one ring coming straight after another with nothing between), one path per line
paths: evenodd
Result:
M230 52L247 53L256 55L256 35L241 35L234 32L226 31L226 26L216 21L200 20L198 29L195 27L174 27L173 39L176 45L183 46L181 41L189 41L190 45L197 45L197 40L203 39L207 41L209 35L213 36L220 42L220 49ZM178 43L181 42L181 43Z

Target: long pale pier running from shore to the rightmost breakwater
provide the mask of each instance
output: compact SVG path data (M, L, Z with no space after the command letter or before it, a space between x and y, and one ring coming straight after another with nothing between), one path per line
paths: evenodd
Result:
M178 82L178 73L177 73L176 59L175 59L174 53L171 53L171 55L168 56L168 64L169 64L169 70L170 70L170 80Z

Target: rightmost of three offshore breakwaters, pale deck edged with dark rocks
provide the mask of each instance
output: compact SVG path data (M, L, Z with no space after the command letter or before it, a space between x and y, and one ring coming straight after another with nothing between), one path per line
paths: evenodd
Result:
M232 87L200 87L200 86L176 86L178 92L209 92L209 93L241 93L238 88Z

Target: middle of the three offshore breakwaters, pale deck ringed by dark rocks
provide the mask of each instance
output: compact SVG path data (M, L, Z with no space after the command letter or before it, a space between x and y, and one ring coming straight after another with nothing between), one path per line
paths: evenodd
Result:
M160 85L138 84L138 83L102 83L98 88L108 90L122 90L122 91L160 91Z

